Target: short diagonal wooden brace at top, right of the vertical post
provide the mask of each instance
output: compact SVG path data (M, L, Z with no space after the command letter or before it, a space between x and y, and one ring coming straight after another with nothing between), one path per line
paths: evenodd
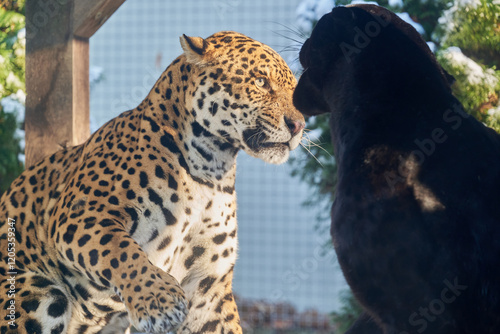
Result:
M90 38L125 0L78 0L74 8L74 34Z

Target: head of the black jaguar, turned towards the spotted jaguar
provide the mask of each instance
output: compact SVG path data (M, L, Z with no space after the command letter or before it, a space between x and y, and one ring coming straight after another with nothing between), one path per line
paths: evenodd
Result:
M391 94L400 98L415 95L412 90L417 87L403 82L450 89L445 72L420 34L376 5L334 8L319 20L299 58L304 73L294 104L307 116L389 99L389 86Z

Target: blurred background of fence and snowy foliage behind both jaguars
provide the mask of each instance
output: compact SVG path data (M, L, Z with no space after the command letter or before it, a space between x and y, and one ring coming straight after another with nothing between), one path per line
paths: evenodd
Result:
M24 1L0 3L1 193L24 168L25 21ZM323 14L348 3L127 0L90 40L91 129L142 101L182 53L182 34L241 32L278 51L299 76L300 45ZM457 79L454 93L466 110L498 131L500 2L378 4L400 13L422 34ZM309 147L315 158L302 148L281 166L244 153L238 157L240 251L234 293L246 333L343 333L359 312L330 246L336 167L327 118L311 118L307 128L317 144Z

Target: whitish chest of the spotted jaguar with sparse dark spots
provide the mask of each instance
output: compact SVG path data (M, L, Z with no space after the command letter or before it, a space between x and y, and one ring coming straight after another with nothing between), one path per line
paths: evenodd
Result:
M145 191L135 208L133 238L153 264L179 281L200 272L223 275L236 260L234 187L189 177L175 182L175 190L157 186Z

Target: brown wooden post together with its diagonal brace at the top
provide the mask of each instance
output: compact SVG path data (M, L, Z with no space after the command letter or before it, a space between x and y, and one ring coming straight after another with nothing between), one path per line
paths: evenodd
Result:
M26 1L26 167L89 137L89 38L124 1Z

